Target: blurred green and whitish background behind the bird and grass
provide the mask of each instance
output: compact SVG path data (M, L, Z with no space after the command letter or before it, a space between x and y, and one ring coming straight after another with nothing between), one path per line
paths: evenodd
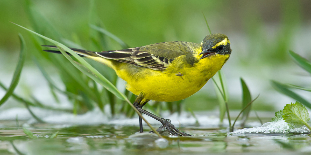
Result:
M99 49L100 46L96 46L94 42L96 40L99 42L100 36L90 28L90 24L98 25L113 33L129 47L165 41L200 43L209 34L202 14L204 13L212 33L224 33L231 42L233 52L223 68L231 109L241 108L240 77L248 84L253 98L260 94L253 105L256 110L275 111L295 101L274 91L269 84L270 79L310 86L308 74L296 66L288 54L289 50L293 50L311 59L311 1L309 0L1 0L0 6L2 6L0 9L0 53L2 55L0 79L6 86L9 85L20 48L17 34L21 33L26 40L29 53L27 53L21 81L15 92L28 99L31 99L30 94L33 94L45 104L56 101L46 97L52 96L49 91L34 89L48 87L47 83L39 82L38 79L44 81L44 77L39 73L32 59L34 51L41 52L34 43L34 38L37 37L10 21L67 46L80 45L88 50L99 51L122 47L104 36L105 42L101 44L102 49ZM42 62L45 60L47 57L42 58ZM58 82L62 79L58 76L60 71L54 68L53 63L43 64L53 80L63 88L64 85ZM117 83L121 84L117 86L122 89L122 81L120 81L118 80ZM0 95L4 93L5 91L0 90ZM310 99L310 96L305 96ZM118 105L122 106L122 104ZM182 109L204 111L215 109L217 105L214 87L209 81L202 90L183 101ZM12 106L21 105L14 104L14 100L9 100L1 108Z

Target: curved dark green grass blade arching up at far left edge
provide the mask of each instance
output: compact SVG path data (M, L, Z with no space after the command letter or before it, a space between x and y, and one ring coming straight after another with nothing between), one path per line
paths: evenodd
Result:
M26 44L25 44L25 40L24 40L23 36L21 34L19 34L18 36L19 36L19 39L21 42L21 50L20 50L19 60L18 60L16 69L15 69L15 72L13 74L12 82L11 82L9 88L7 89L6 94L0 100L0 106L5 101L7 101L7 99L13 94L13 91L19 82L19 79L21 76L21 70L23 69L23 66L24 66L24 62L25 62L25 58L26 58Z

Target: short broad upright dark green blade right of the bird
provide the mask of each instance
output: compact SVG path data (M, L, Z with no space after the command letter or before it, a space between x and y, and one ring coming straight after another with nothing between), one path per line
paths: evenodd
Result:
M249 102L252 101L251 93L249 92L249 89L243 80L243 78L240 78L241 80L241 85L242 85L242 91L243 91L243 96L242 96L242 109L247 106ZM242 114L242 124L244 124L247 120L249 111L251 110L251 105L249 105L245 110L243 111Z

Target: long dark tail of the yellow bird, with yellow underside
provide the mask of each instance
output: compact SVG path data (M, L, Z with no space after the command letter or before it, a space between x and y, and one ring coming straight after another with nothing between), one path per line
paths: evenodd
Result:
M43 47L49 47L49 48L57 48L56 46L50 46L50 45L42 45L42 46ZM94 51L81 50L81 49L77 49L77 48L70 48L70 49L82 57L86 57L88 59L95 60L99 63L102 63L102 64L107 65L108 67L114 69L114 66L112 64L112 60L105 59L105 58L101 57L100 55L97 55L96 52L94 52ZM60 51L55 51L55 50L43 50L43 51L62 54ZM71 55L68 52L66 52L66 53L68 55Z

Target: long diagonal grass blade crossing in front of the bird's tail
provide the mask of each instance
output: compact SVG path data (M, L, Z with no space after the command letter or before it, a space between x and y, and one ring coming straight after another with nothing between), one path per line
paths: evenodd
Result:
M15 23L13 23L15 24ZM87 76L92 78L94 81L100 83L102 86L104 86L107 90L110 92L114 93L114 95L118 96L122 100L126 100L128 104L136 111L136 113L142 117L142 119L146 122L146 124L160 137L163 138L157 131L156 129L151 126L151 124L142 116L142 114L134 107L134 105L128 100L128 98L122 94L118 89L111 83L109 82L102 74L100 74L96 69L94 69L90 64L88 64L83 58L81 58L79 55L77 55L74 51L72 51L70 48L66 47L65 45L56 42L50 38L47 38L39 33L36 33L34 31L31 31L30 29L27 29L21 25L16 24L17 26L26 29L27 31L34 33L35 35L55 44L59 51L63 53L63 55L74 65L76 66L81 72L85 73ZM64 50L66 50L68 53L70 53L73 57L75 57L81 64L78 62L74 61Z

